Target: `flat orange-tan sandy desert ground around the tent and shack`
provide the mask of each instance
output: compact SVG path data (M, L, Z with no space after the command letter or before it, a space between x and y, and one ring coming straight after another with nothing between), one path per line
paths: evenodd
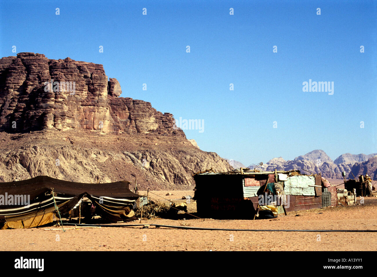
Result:
M173 195L166 196L167 192ZM139 192L142 194L142 192ZM153 191L156 198L181 199L193 191ZM152 194L153 195L153 194ZM153 197L154 198L154 197ZM185 200L181 200L182 202ZM179 202L179 201L177 201ZM196 210L196 203L189 203ZM300 216L296 216L299 214ZM273 220L152 219L143 224L232 229L377 230L377 197L364 205L288 212ZM120 225L124 223L116 223ZM128 224L128 223L127 223ZM129 224L140 224L139 221ZM72 226L66 226L72 228ZM61 230L53 226L0 230L3 251L376 251L377 233L207 231L101 227Z

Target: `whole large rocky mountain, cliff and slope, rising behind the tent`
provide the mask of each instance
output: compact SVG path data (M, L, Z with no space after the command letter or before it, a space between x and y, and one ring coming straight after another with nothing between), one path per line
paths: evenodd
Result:
M37 175L193 188L192 174L231 167L173 127L173 115L119 97L103 66L18 53L0 59L0 181Z

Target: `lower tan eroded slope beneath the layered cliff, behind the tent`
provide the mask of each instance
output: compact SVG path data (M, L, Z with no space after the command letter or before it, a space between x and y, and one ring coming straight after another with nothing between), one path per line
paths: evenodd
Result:
M231 170L225 159L186 138L159 134L102 134L85 129L0 132L0 182L38 175L83 182L128 180L139 190L193 189L192 175ZM131 186L130 186L131 188Z

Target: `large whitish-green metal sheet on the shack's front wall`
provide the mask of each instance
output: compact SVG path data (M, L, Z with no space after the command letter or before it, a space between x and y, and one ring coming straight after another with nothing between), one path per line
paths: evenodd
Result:
M288 178L288 181L284 182L284 191L290 195L314 196L316 192L313 185L315 184L314 176L291 176Z

